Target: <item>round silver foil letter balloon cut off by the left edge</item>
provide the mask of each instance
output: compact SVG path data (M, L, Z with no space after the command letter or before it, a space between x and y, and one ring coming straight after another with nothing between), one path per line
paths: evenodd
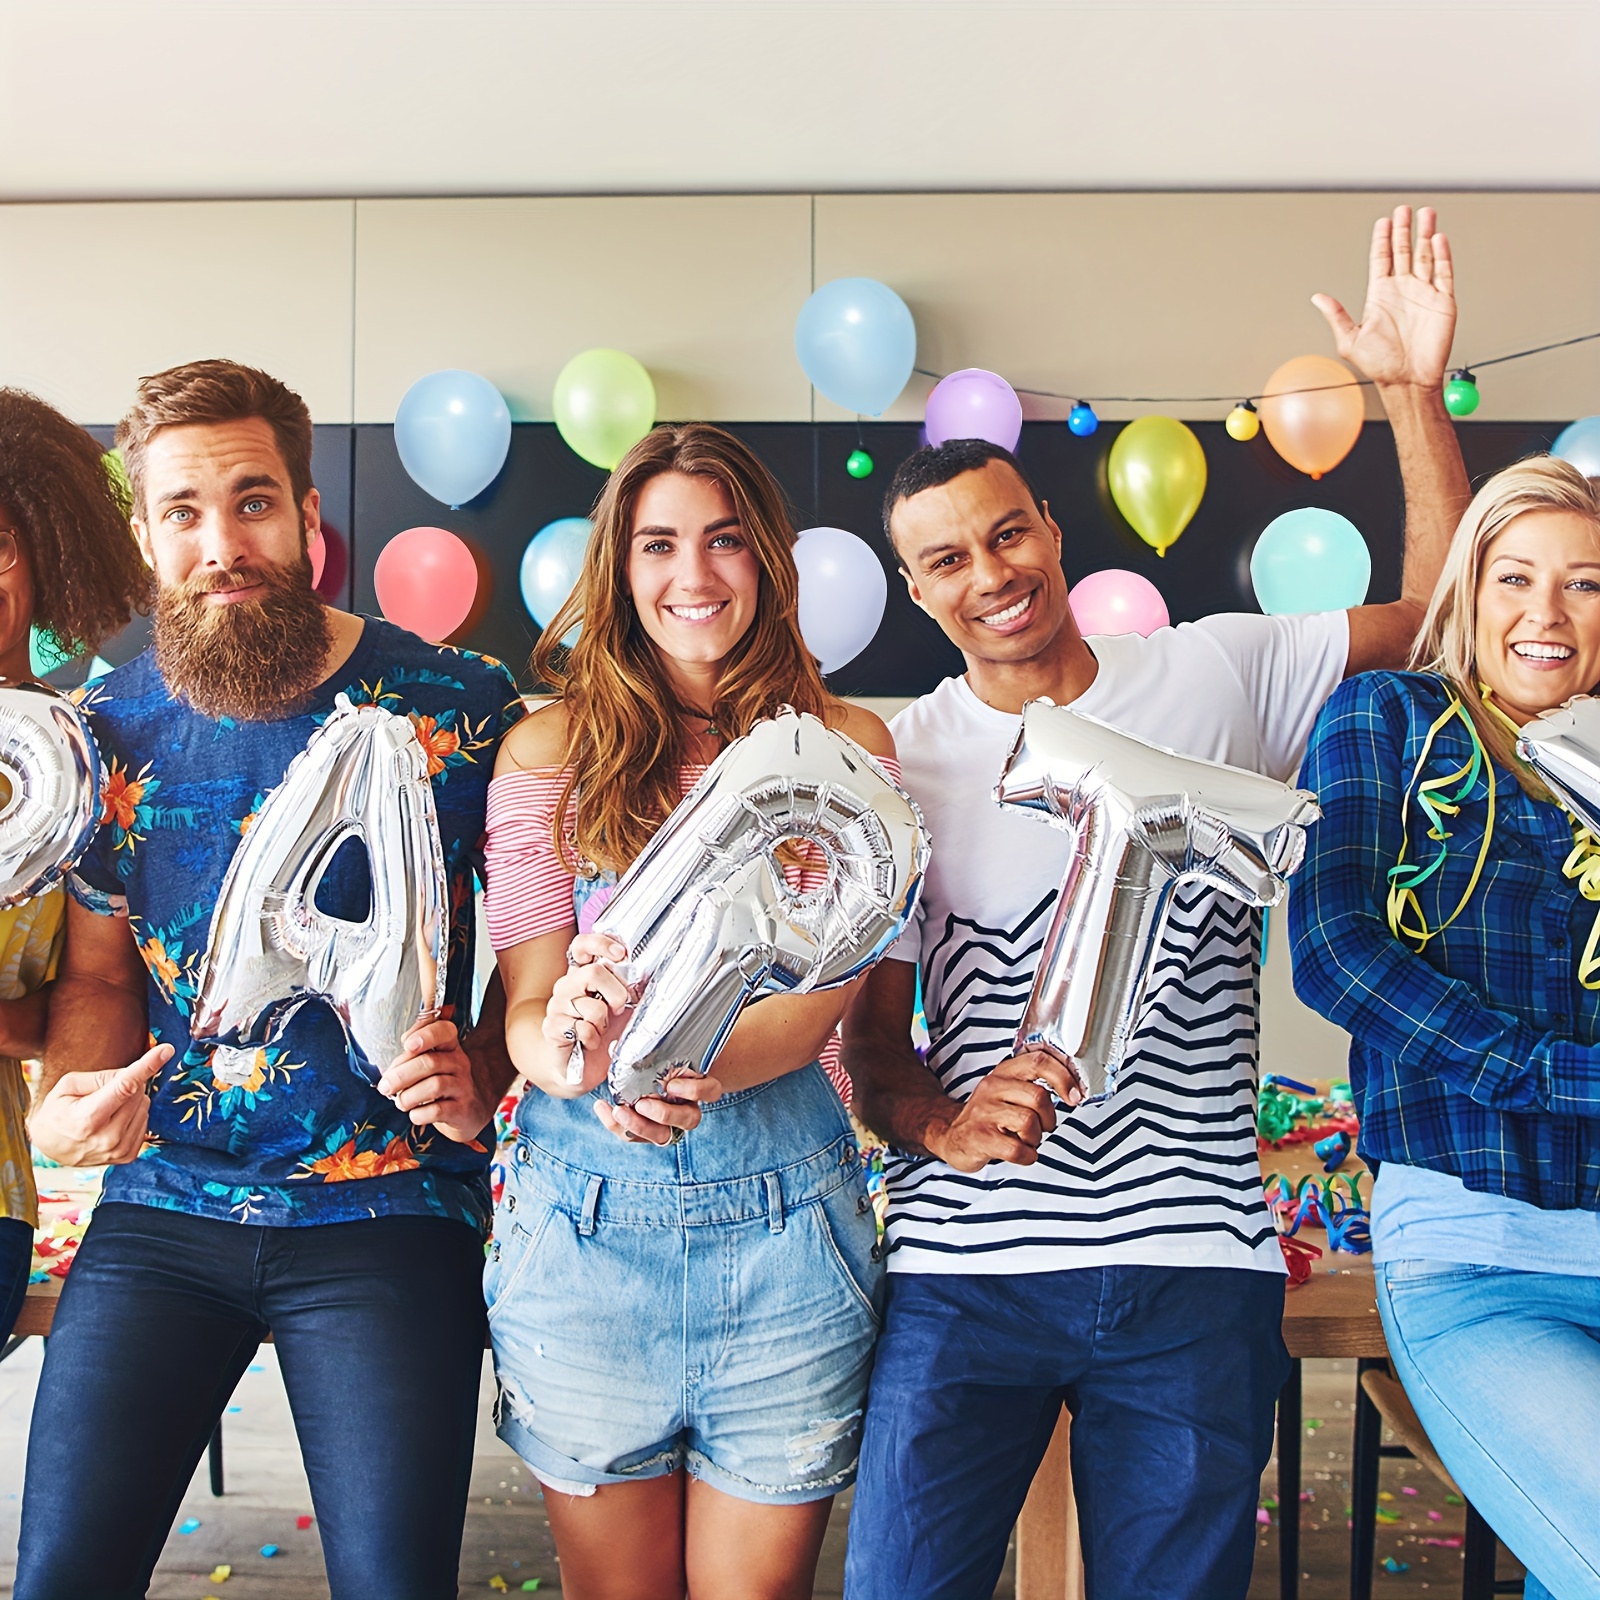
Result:
M66 694L0 678L0 906L21 906L77 866L99 824L99 750Z

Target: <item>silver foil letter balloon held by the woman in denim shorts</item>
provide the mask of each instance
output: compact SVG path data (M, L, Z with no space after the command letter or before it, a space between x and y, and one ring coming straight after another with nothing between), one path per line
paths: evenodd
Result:
M814 845L827 883L784 878L786 842ZM595 923L627 946L634 1011L611 1096L706 1072L757 994L837 989L899 938L928 862L917 806L866 750L784 710L734 739L622 875Z

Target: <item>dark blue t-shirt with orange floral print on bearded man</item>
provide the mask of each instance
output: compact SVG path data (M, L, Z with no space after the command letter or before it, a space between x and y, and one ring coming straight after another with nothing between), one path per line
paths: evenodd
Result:
M350 659L304 712L234 723L174 701L146 651L83 693L106 797L94 843L69 880L90 910L126 915L149 973L150 1035L174 1048L157 1078L150 1141L138 1160L107 1171L107 1200L269 1226L394 1214L488 1226L488 1149L413 1126L357 1074L330 1006L301 1006L262 1046L189 1038L234 850L338 694L410 717L427 750L450 880L445 1014L469 1021L485 795L499 738L522 715L510 674L488 656L365 618ZM318 907L358 922L370 893L365 853L341 846Z

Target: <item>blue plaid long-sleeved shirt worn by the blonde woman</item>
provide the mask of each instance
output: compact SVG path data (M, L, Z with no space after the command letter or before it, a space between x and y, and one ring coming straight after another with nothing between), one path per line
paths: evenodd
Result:
M1466 909L1419 954L1389 931L1389 869L1429 728L1450 706L1432 674L1342 683L1310 736L1301 782L1322 800L1290 896L1299 997L1352 1035L1362 1154L1453 1173L1467 1189L1546 1210L1600 1210L1600 994L1578 982L1597 907L1562 874L1571 826L1494 770L1494 829ZM1419 776L1472 757L1461 720ZM1467 890L1488 771L1464 797L1445 866L1418 888L1430 928ZM1411 800L1406 861L1438 850ZM1411 912L1414 918L1416 912Z

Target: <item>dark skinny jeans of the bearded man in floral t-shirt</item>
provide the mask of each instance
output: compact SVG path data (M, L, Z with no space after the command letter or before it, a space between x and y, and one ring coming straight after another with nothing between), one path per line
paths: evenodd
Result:
M16 1600L136 1600L272 1330L336 1600L454 1600L483 1246L462 1222L258 1227L101 1203L34 1402Z

